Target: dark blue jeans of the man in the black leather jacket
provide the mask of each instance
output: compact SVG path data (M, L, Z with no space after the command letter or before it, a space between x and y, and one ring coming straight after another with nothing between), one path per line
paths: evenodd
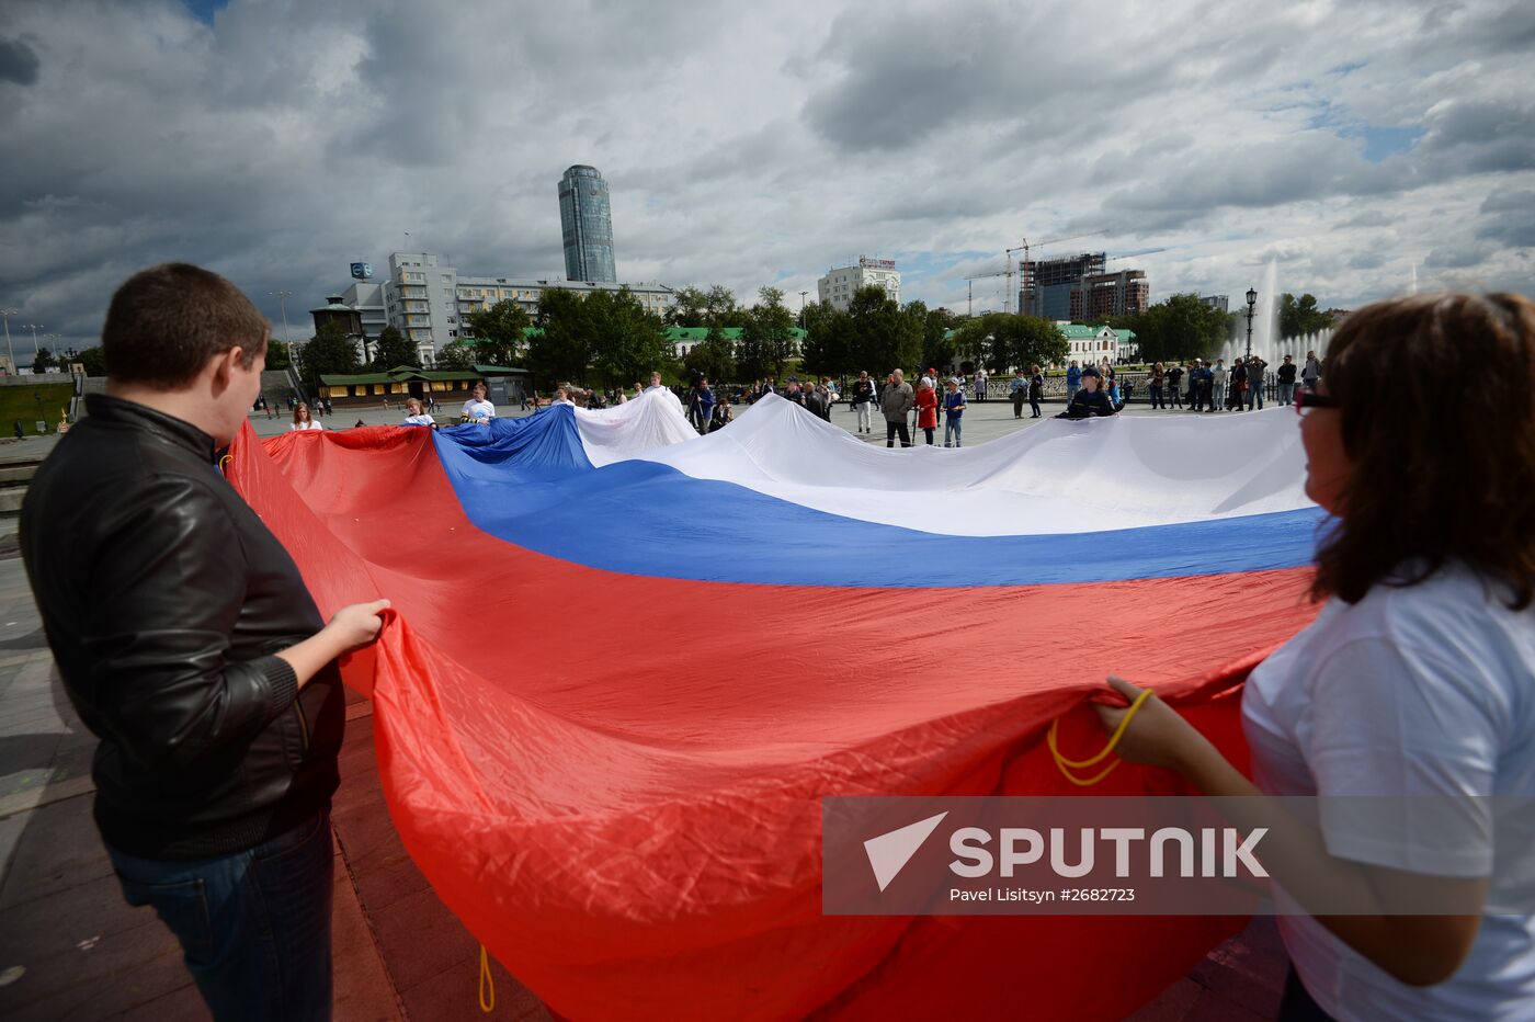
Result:
M141 859L107 849L123 896L154 905L220 1022L330 1017L330 813L249 852Z

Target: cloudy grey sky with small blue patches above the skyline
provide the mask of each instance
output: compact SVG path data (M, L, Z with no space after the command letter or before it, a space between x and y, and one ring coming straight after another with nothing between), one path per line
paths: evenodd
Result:
M553 278L573 163L622 279L740 298L864 253L964 310L1078 235L1153 301L1530 292L1532 52L1527 2L6 0L0 307L84 347L187 259L307 336L390 252Z

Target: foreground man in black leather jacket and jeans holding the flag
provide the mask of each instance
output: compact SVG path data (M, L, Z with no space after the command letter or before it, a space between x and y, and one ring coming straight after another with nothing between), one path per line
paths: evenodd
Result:
M38 468L21 556L69 700L101 741L95 819L123 893L177 933L218 1019L330 1016L335 658L387 600L321 623L224 482L269 327L186 264L130 278L107 393Z

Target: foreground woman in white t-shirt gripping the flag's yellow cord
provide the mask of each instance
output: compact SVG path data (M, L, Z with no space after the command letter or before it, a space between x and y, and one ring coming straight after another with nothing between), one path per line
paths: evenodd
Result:
M1207 795L1319 796L1300 829L1268 799L1228 812L1299 835L1257 850L1292 964L1280 1017L1535 1019L1532 393L1524 298L1351 313L1319 390L1297 394L1306 494L1337 522L1325 606L1242 695L1253 781L1154 697L1117 746ZM1107 727L1125 712L1099 707ZM1405 915L1424 899L1440 915Z

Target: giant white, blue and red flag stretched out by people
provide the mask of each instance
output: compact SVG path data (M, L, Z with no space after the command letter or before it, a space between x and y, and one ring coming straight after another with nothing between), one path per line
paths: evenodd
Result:
M1121 1017L1239 919L827 918L826 795L1082 793L1044 750L1151 684L1242 761L1245 671L1312 615L1286 410L869 447L768 397L235 445L442 899L568 1017ZM1091 789L1173 793L1124 767Z

